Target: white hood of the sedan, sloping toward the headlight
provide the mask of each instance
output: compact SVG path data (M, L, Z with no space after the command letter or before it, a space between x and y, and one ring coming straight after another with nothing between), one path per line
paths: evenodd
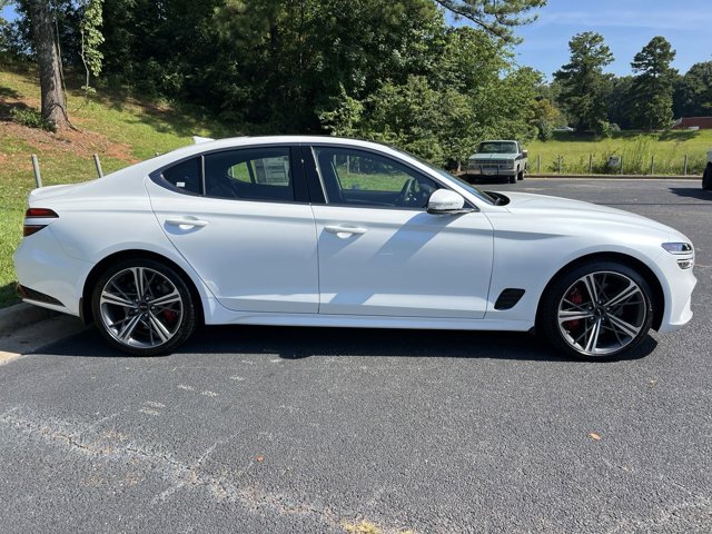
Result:
M647 217L607 206L528 192L507 191L501 195L510 199L506 208L513 214L528 214L536 218L547 217L562 219L562 224L565 224L564 220L575 220L578 224L591 221L592 224L600 225L623 225L646 228L666 236L681 235L674 228L649 219Z

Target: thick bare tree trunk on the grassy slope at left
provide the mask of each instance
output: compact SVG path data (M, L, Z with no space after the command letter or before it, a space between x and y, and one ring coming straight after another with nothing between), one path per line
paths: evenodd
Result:
M57 130L69 128L67 102L62 90L59 55L55 44L55 27L49 2L30 0L30 20L34 38L34 51L40 69L40 90L42 92L42 118Z

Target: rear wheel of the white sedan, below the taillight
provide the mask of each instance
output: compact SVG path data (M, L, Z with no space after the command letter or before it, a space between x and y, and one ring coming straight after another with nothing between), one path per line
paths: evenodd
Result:
M196 304L184 278L154 259L127 259L99 277L95 324L113 347L136 356L169 354L196 327Z

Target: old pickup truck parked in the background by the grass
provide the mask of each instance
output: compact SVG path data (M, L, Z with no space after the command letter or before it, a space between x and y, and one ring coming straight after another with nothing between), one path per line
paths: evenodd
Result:
M468 176L503 176L510 184L524 179L526 150L518 141L482 141L475 154L467 158Z

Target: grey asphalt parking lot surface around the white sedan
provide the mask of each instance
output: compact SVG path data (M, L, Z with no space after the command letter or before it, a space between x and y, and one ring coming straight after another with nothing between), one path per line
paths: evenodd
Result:
M581 363L526 334L206 328L129 358L89 330L0 367L0 531L712 531L712 194L485 185L696 245L694 319Z

